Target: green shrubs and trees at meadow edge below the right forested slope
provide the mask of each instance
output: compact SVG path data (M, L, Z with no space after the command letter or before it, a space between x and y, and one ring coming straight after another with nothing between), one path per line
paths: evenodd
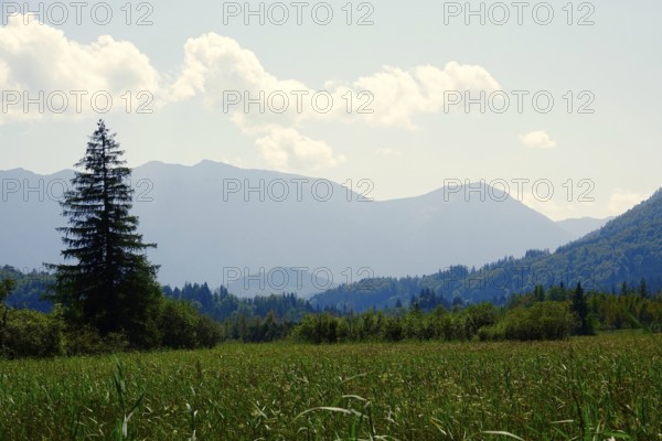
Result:
M421 298L430 308L434 292L424 291L418 299ZM426 312L418 300L414 300L408 310L307 315L293 332L302 342L320 344L403 340L544 341L590 335L596 330L623 329L662 331L662 295L597 292L585 295L580 284L572 291L563 287L545 291L537 287L534 292L511 297L504 308L481 303L456 305L448 311L439 304Z

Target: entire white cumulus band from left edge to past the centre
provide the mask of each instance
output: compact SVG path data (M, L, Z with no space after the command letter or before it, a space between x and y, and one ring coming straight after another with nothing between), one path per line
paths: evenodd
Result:
M150 97L154 99L150 109L199 99L207 109L226 114L255 140L270 164L288 169L316 170L345 160L324 141L303 135L306 122L413 130L417 115L440 111L446 92L489 92L498 89L499 84L481 66L450 62L442 68L383 66L371 75L328 82L323 87L319 90L293 78L278 78L267 72L255 53L216 33L189 39L180 69L166 75L132 43L109 35L82 44L46 24L24 24L21 15L11 17L8 25L0 28L2 90L26 90L31 97L40 90L46 95L62 90L70 99L66 116L78 114L71 90L88 93L83 103L90 111L89 95L95 92L108 93L113 109L122 111L127 90L131 90L134 110ZM140 92L149 95L140 100ZM247 104L248 99L253 101ZM19 103L0 115L0 123L44 118L47 114L25 114ZM62 117L55 112L51 116Z

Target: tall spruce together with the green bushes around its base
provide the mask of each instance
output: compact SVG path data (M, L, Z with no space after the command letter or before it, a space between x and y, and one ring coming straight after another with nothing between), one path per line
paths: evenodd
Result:
M68 227L58 228L62 256L72 265L47 265L54 275L0 270L0 357L212 347L220 342L216 322L189 302L163 297L158 267L146 255L156 245L142 241L138 218L130 214L131 170L122 154L99 120L61 202L68 220Z

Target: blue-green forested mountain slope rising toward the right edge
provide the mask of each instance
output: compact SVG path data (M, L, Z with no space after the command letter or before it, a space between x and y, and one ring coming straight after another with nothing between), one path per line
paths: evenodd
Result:
M585 289L620 292L621 283L636 288L645 279L650 292L662 290L662 190L626 214L555 252L530 250L474 270L462 266L414 278L376 278L341 286L312 298L319 306L362 311L383 308L430 288L451 300L500 301L536 284L551 287L581 282Z

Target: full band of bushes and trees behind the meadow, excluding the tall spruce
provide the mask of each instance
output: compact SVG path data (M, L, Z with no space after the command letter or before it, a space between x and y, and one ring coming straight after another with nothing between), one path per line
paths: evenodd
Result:
M363 313L311 312L311 306L293 294L237 299L223 288L211 291L206 284L186 284L181 290L167 287L164 291L153 319L152 347L214 347L228 341L287 338L312 344L549 341L596 331L662 331L662 295L627 287L618 294L585 294L580 283L574 290L563 284L547 290L537 286L526 294L512 295L504 306L451 305L424 289L406 308L401 304ZM0 356L102 354L132 347L124 333L103 335L94 326L72 324L60 308L47 314L6 306L3 311Z

